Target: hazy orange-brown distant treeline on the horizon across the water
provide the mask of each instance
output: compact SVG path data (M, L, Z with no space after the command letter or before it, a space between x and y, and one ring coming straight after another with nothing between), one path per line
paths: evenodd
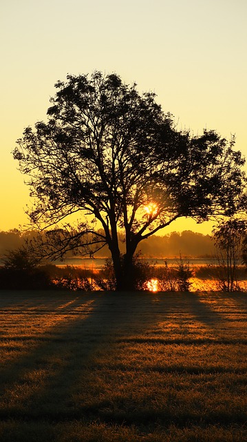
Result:
M35 236L35 231L21 232L17 229L10 231L0 231L0 257L3 257L8 251L16 250L25 244L25 240ZM122 252L125 244L120 242ZM214 253L214 243L209 235L195 233L190 230L181 233L173 232L165 236L151 236L140 243L138 249L145 257L173 258L180 256L186 257L206 257ZM72 253L70 253L70 256ZM110 253L107 247L104 247L98 253L98 257L109 257Z

